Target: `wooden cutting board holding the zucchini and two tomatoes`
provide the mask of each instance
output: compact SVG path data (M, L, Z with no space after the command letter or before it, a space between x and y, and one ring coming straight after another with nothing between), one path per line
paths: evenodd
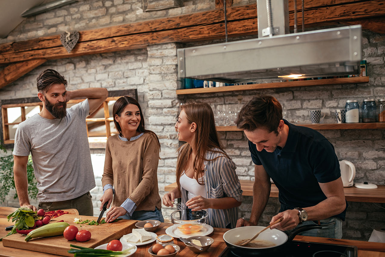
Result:
M75 225L77 228L79 228L79 230L89 230L89 232L91 232L91 239L87 242L77 242L76 240L68 241L64 238L63 235L55 237L34 238L26 242L24 240L25 236L20 234L13 234L3 238L3 246L36 252L44 252L47 254L74 256L74 254L69 254L67 252L70 249L70 244L94 248L98 245L108 243L113 239L119 240L123 235L131 233L132 228L135 228L135 223L137 222L136 220L119 220L112 223L104 223L98 226L75 224L74 218L80 217L82 220L97 220L97 217L73 214L64 214L58 218L55 218L55 220L64 220L70 225ZM82 227L80 227L80 225Z

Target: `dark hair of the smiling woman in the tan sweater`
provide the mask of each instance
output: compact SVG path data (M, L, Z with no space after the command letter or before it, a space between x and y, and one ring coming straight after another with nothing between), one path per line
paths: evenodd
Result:
M136 129L136 131L140 132L140 133L152 134L158 141L159 152L160 152L161 151L161 143L159 142L158 136L155 134L155 132L153 132L151 130L147 130L144 128L144 118L143 118L142 108L139 105L138 101L136 101L134 98L132 98L130 96L122 96L121 98L116 100L116 102L114 103L114 107L112 107L112 117L114 117L114 123L115 123L115 128L116 128L117 132L119 132L119 134L121 136L123 136L122 135L122 129L121 129L119 123L115 120L115 115L117 114L120 117L124 108L126 108L126 106L129 104L136 105L139 108L139 112L141 115L141 121L139 122L139 126Z

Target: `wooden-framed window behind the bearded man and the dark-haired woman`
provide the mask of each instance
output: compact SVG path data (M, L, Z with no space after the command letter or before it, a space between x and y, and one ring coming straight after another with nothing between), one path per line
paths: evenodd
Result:
M112 95L112 96L111 96ZM109 91L109 97L102 105L85 119L87 123L87 136L91 148L104 148L105 142L111 135L117 134L112 117L112 107L121 96L130 95L137 99L136 90L117 90ZM74 99L67 102L67 108L80 103L85 99ZM16 103L8 103L9 101ZM27 101L27 102L26 102ZM24 102L24 103L22 103ZM1 140L6 147L13 147L15 142L15 132L18 124L27 118L39 113L43 108L43 103L39 98L23 98L1 101L1 121L2 136Z

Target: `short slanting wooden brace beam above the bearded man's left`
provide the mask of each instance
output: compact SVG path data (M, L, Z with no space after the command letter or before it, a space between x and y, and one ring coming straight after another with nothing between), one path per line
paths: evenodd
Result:
M0 88L12 83L46 61L46 59L34 59L8 65L0 71Z

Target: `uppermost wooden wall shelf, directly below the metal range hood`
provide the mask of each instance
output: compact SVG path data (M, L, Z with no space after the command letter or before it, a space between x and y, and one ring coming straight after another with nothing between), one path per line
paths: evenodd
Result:
M358 84L358 83L368 83L368 82L369 82L369 77L315 79L315 80L260 83L260 84L238 85L238 86L220 86L218 88L215 87L215 88L178 89L176 90L176 94L189 95L189 94L199 94L199 93L215 93L215 92L258 90L258 89L272 89L272 88L292 88L297 86L302 87L302 86Z

